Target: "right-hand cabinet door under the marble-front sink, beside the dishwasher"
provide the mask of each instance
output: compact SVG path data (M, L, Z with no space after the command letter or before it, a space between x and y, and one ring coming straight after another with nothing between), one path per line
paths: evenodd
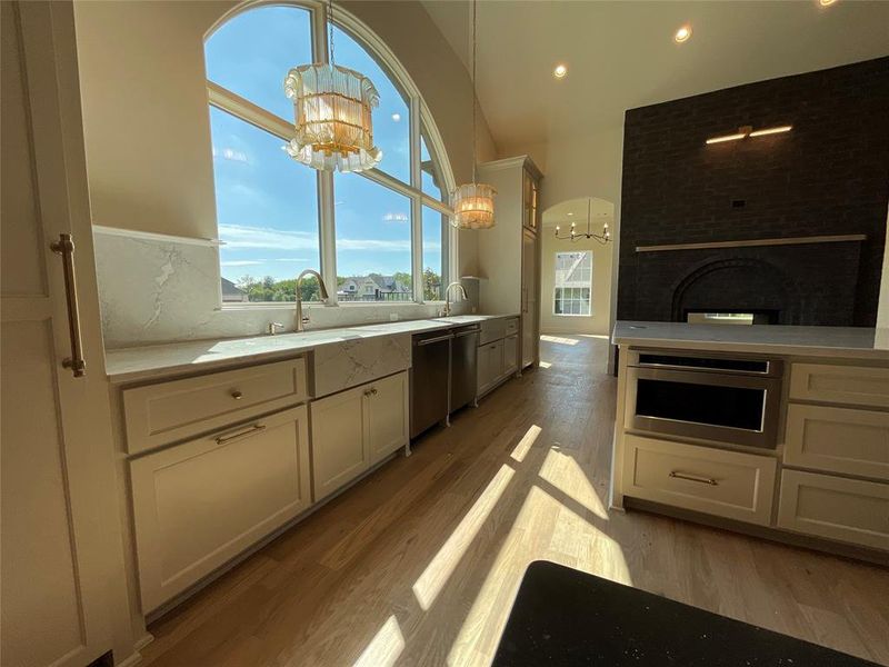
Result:
M407 377L408 374L399 372L370 384L368 445L371 466L408 442Z

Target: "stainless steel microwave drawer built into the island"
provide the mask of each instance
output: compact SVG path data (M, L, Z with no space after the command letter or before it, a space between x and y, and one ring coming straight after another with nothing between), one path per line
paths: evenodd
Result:
M775 449L783 362L631 351L626 422L651 434Z

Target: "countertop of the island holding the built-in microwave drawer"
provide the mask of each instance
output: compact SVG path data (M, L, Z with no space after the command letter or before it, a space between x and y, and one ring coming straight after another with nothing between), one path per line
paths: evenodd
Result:
M619 320L611 341L621 346L686 350L889 359L889 329L689 325Z

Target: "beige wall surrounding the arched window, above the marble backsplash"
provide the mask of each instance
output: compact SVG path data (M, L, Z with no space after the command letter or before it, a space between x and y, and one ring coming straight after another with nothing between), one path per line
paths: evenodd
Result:
M216 238L203 36L237 2L76 4L93 222ZM347 1L391 48L421 91L458 182L471 175L471 82L418 2ZM404 30L410 26L410 30ZM483 118L479 157L495 157ZM460 236L473 272L476 232Z

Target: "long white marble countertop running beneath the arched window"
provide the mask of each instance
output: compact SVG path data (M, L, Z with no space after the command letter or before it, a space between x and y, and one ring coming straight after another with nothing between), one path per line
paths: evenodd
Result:
M336 342L378 336L422 334L424 331L448 329L455 326L507 317L518 317L518 315L458 315L437 319L303 331L301 334L194 340L122 348L106 352L106 372L112 382L130 382L168 375L216 370L219 367L246 361L283 359Z

